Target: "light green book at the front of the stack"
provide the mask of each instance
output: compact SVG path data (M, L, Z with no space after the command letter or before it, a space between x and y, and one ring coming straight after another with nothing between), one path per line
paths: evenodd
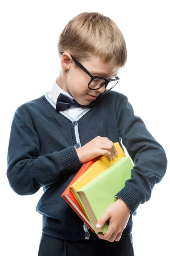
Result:
M96 223L108 206L116 201L114 196L125 186L125 181L131 178L131 169L133 163L130 157L122 157L77 191L96 234L107 231L108 221L102 228L96 228Z

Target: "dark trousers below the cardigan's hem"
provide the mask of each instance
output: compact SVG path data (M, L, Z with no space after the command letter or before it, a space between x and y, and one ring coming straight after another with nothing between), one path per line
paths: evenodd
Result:
M132 233L119 241L62 240L42 233L38 256L134 256Z

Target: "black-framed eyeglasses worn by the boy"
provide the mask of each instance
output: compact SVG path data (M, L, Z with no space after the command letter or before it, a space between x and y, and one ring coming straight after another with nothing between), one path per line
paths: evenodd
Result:
M60 52L62 55L64 52ZM71 54L70 54L71 55ZM73 55L71 58L74 60L75 64L80 67L88 76L91 77L90 82L88 83L88 88L91 90L96 90L102 87L105 84L105 91L109 91L116 86L116 84L120 81L119 77L116 76L115 79L106 79L101 76L93 76Z

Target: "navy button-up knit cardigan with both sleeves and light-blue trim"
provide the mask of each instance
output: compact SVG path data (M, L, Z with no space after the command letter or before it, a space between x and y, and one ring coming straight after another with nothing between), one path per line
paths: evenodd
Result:
M43 188L36 210L42 214L45 234L59 239L85 239L82 219L61 194L82 166L76 148L97 136L108 137L125 146L134 164L131 179L115 195L131 211L122 236L131 233L132 215L150 199L154 185L166 172L164 148L134 114L122 93L102 93L96 105L83 111L77 120L63 111L57 112L55 102L52 103L42 95L24 103L14 113L7 160L11 188L19 195L32 195ZM99 239L91 230L89 234Z

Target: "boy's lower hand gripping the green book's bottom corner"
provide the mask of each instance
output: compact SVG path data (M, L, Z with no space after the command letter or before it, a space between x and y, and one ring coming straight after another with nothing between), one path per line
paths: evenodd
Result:
M114 240L119 241L122 236L122 232L127 225L129 217L129 207L127 206L127 204L125 204L124 201L118 198L113 204L110 204L108 206L102 217L97 222L97 224L101 224L101 227L105 224L107 220L109 222L106 233L98 233L98 237L100 239L108 240L110 242L113 242Z

